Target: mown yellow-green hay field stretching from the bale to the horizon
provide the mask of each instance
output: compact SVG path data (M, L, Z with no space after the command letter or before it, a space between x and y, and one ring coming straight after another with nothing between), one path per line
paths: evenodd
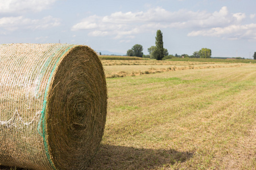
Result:
M104 137L88 169L255 169L256 65L172 62L102 62L124 76L106 79Z

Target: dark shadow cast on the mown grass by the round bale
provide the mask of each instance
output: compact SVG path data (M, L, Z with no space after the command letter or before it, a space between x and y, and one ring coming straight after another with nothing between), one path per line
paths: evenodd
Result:
M101 145L88 169L159 169L186 162L192 152Z

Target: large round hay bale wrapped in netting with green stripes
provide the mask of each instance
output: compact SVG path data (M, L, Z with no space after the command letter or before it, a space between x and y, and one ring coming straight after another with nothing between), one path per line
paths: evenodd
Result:
M88 46L0 45L0 164L85 169L106 121L104 70Z

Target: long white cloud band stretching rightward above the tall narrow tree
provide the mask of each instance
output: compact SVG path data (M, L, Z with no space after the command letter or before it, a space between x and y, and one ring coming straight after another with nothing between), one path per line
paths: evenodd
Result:
M162 7L156 7L149 8L147 11L114 12L107 16L89 16L73 25L71 30L87 30L89 36L112 36L114 39L130 39L131 36L139 33L162 28L192 29L188 36L209 34L210 36L224 36L230 34L229 29L236 32L233 27L239 26L245 18L245 14L241 12L232 14L225 6L212 13L185 9L168 11Z

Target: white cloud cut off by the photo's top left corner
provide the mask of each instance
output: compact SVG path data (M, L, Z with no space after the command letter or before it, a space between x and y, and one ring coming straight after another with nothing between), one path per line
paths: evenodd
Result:
M39 12L57 0L0 0L0 14L1 13L17 13L34 11Z

